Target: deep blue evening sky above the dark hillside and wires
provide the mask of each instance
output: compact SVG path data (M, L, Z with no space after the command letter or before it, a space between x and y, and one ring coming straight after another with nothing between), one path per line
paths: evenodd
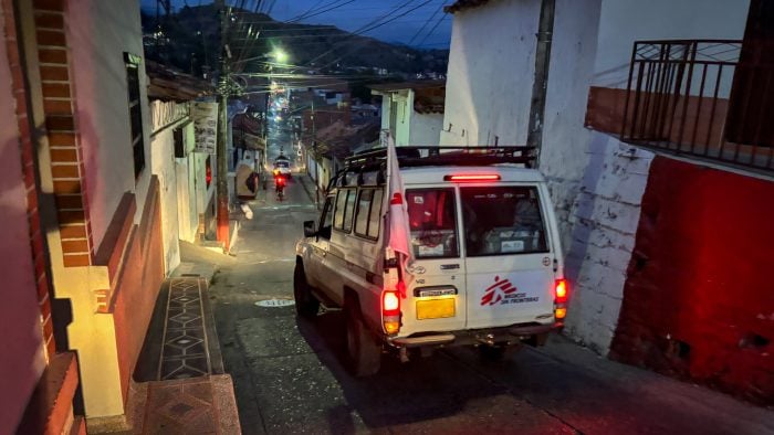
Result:
M212 0L172 0L172 6L178 8L188 4L190 7L211 3ZM239 1L227 0L228 4ZM301 20L307 24L332 24L346 31L356 31L372 20L393 12L404 6L399 12L389 14L384 21L394 21L367 31L366 36L376 38L387 42L400 42L425 49L448 49L451 34L451 15L444 14L443 4L451 4L454 0L269 0L264 4L274 3L270 15L274 20L287 21L307 12L314 8L314 12L327 12L315 14ZM156 12L156 0L140 0L143 10L148 13ZM254 8L255 1L245 2L249 8ZM411 9L416 10L410 11ZM262 7L265 12L266 7ZM409 12L410 11L410 12ZM406 13L408 12L408 13ZM400 14L402 17L396 18ZM435 15L433 15L435 14ZM432 18L432 19L431 19ZM430 20L431 19L431 20ZM423 28L423 29L422 29ZM435 30L432 30L435 28ZM430 31L432 32L430 33Z

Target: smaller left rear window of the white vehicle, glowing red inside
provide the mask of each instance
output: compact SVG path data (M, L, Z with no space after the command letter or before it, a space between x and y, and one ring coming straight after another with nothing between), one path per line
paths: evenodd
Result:
M448 258L459 256L453 189L406 191L414 256Z

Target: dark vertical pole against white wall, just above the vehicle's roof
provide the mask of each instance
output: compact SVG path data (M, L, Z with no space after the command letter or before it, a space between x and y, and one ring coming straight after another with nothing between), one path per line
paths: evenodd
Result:
M555 0L541 1L541 18L535 51L535 81L532 84L530 123L527 124L529 131L526 134L526 145L534 147L532 151L534 168L540 167L541 148L543 146L543 125L545 124L545 99L548 88L555 6Z

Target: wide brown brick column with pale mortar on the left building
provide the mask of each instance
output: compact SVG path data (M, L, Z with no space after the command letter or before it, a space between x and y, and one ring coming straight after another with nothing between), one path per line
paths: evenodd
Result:
M51 173L65 267L93 264L83 150L65 33L65 1L34 0L35 36L49 131Z

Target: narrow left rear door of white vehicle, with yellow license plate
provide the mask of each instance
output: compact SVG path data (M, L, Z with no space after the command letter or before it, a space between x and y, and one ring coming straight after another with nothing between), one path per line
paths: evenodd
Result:
M453 187L407 187L414 248L401 333L450 331L466 325L466 265L460 255Z

